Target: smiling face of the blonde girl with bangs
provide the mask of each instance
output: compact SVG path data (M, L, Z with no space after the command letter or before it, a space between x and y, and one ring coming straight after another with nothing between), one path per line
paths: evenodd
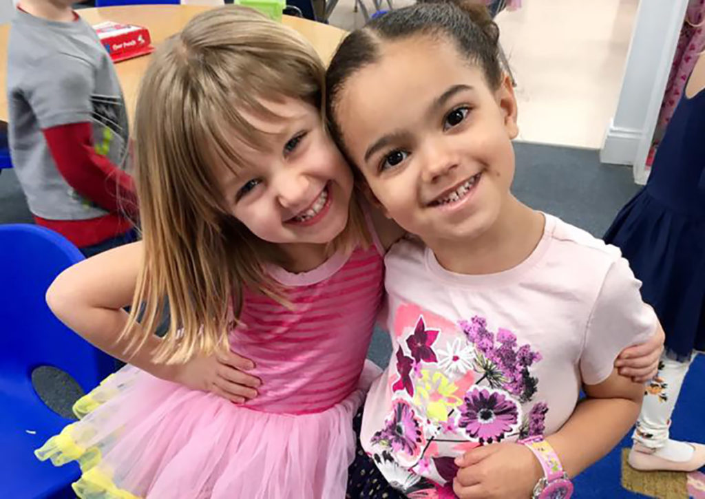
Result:
M264 150L235 137L245 166L216 171L226 209L262 240L328 244L348 223L350 168L316 107L288 97L262 105L276 118L242 114L266 135Z

